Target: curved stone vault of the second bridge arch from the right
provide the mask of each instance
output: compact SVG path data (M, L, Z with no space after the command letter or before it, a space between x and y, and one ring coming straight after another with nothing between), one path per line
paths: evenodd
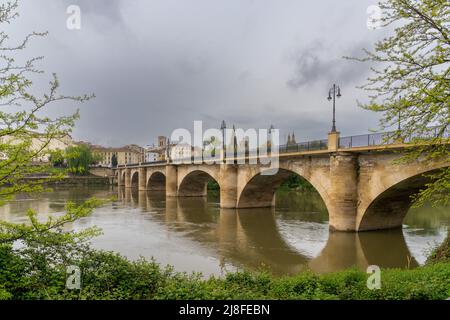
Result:
M295 168L284 166L278 169L274 175L263 175L264 170L256 172L246 180L238 191L237 207L244 208L262 208L273 207L275 205L275 192L281 184L288 180L290 176L297 175L309 182L319 193L325 206L328 209L329 196L326 191L327 181L320 180L319 176L312 176L309 170L304 167Z

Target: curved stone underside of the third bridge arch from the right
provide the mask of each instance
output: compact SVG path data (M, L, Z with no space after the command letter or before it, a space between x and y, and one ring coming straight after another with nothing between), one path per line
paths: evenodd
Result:
M220 180L211 170L195 169L179 177L178 195L181 197L204 197L208 182L213 180L220 186Z

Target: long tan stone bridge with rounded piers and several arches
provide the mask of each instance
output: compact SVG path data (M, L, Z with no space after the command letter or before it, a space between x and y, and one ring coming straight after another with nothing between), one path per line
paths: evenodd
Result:
M227 209L271 207L275 191L290 175L306 179L320 194L329 227L366 231L401 227L411 195L429 182L427 173L448 167L449 160L395 162L407 145L340 147L329 136L325 150L285 152L274 175L261 164L139 164L116 169L125 188L165 191L167 197L205 196L207 183L220 186L220 206ZM334 143L333 143L334 142Z

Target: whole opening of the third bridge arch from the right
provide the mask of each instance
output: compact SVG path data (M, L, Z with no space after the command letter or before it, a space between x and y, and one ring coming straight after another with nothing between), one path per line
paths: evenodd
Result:
M219 183L210 174L200 170L187 174L178 188L180 197L218 197L219 193Z

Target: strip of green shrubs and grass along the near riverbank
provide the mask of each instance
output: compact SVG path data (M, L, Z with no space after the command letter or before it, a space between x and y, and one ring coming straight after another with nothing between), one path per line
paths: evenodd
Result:
M0 246L0 299L334 299L443 300L450 296L450 263L413 270L383 269L379 289L368 289L369 274L356 269L317 275L302 272L274 277L267 272L235 272L223 278L177 273L154 261L130 261L91 251L78 261L81 289L66 288L66 268L46 266L44 277L27 272L29 262Z

